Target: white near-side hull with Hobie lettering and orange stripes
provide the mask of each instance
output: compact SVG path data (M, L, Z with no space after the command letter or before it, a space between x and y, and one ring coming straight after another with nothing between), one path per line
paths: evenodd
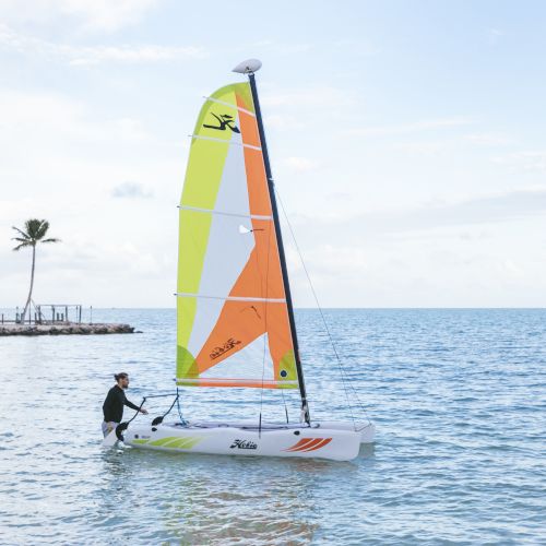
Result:
M345 425L345 424L341 424ZM320 458L351 461L358 455L361 432L354 429L200 424L131 425L123 442L133 448L177 453Z

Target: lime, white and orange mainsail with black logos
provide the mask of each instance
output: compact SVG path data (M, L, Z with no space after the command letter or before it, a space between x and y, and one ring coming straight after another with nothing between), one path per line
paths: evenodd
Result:
M177 384L297 388L249 83L227 85L206 98L179 209Z

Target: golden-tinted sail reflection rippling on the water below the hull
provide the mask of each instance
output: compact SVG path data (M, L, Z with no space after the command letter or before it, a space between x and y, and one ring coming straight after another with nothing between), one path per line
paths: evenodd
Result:
M312 502L306 491L309 484L289 468L283 468L288 475L264 480L260 478L263 473L257 472L259 468L249 472L242 464L242 461L228 462L222 464L223 472L174 480L178 499L169 503L165 513L167 529L193 544L211 539L218 544L226 541L271 544L272 537L282 544L290 539L309 541L314 529L305 515Z

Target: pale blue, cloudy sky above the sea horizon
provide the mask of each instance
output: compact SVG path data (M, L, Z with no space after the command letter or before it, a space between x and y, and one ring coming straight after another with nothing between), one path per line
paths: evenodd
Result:
M546 307L546 3L0 0L0 307L174 307L202 97L257 80L323 307ZM290 240L296 307L313 307Z

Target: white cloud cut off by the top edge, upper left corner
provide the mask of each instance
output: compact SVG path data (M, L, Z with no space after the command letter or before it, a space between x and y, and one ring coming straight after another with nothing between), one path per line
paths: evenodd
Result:
M159 0L2 0L0 16L47 24L66 16L85 31L114 32L140 22Z

